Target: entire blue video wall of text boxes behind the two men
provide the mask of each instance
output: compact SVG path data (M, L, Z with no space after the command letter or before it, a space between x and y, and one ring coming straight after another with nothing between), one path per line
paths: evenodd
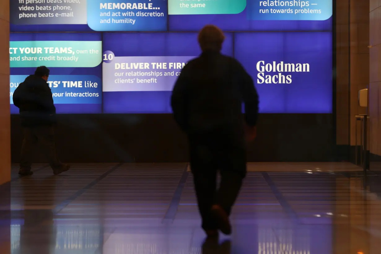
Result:
M332 112L332 0L11 0L10 103L50 69L57 113L171 113L205 24L225 30L261 113Z

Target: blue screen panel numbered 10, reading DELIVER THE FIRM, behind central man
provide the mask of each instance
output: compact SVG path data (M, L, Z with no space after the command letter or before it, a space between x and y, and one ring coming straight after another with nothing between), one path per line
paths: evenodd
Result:
M222 52L232 56L225 35ZM200 54L196 33L105 33L103 50L104 113L171 113L177 76Z

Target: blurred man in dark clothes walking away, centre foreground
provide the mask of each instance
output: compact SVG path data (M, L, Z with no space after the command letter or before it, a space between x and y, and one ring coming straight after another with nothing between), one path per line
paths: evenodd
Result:
M258 94L242 65L220 53L224 34L218 27L205 26L198 40L202 54L182 69L171 105L189 139L202 228L208 236L218 229L229 235L229 215L246 175L247 141L256 135Z

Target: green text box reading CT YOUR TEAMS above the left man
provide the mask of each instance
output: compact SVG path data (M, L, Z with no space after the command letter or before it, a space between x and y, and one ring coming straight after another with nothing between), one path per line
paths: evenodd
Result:
M102 42L97 41L10 42L9 48L11 68L37 67L40 65L47 67L95 67L102 62ZM26 50L22 51L23 48L30 48L30 53L26 53ZM53 52L50 51L50 48L53 48ZM34 59L22 60L23 57L34 57ZM45 57L50 58L43 59ZM64 57L66 59L62 59Z

